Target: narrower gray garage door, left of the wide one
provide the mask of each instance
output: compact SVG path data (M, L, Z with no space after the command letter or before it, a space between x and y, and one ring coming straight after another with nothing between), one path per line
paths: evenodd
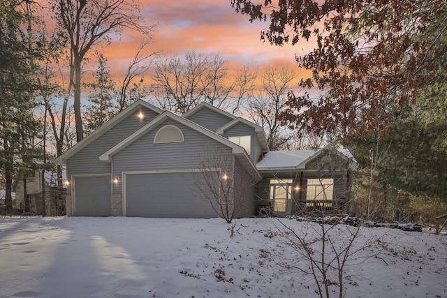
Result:
M74 177L75 216L110 216L110 175Z

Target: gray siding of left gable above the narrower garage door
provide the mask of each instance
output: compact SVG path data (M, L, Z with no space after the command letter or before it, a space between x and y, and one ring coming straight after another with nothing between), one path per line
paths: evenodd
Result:
M143 107L142 112L146 116L145 119L138 119L137 115L140 113L140 110L137 110L134 114L110 128L109 131L69 158L67 161L68 175L110 173L110 163L99 161L99 156L158 116L156 112Z

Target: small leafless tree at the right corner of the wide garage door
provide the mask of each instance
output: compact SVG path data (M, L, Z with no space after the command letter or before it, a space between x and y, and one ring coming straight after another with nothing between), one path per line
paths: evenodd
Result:
M212 209L231 223L243 215L256 177L243 170L230 151L205 150L199 156L199 167L193 179L196 191Z

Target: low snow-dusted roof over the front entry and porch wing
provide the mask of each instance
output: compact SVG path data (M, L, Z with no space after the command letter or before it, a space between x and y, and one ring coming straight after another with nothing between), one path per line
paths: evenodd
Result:
M306 164L322 154L325 149L328 149L328 147L308 150L270 151L268 154L265 154L262 161L256 164L256 169L260 171L305 170ZM337 149L337 154L343 158L351 159L350 169L357 167L357 161L349 149Z

